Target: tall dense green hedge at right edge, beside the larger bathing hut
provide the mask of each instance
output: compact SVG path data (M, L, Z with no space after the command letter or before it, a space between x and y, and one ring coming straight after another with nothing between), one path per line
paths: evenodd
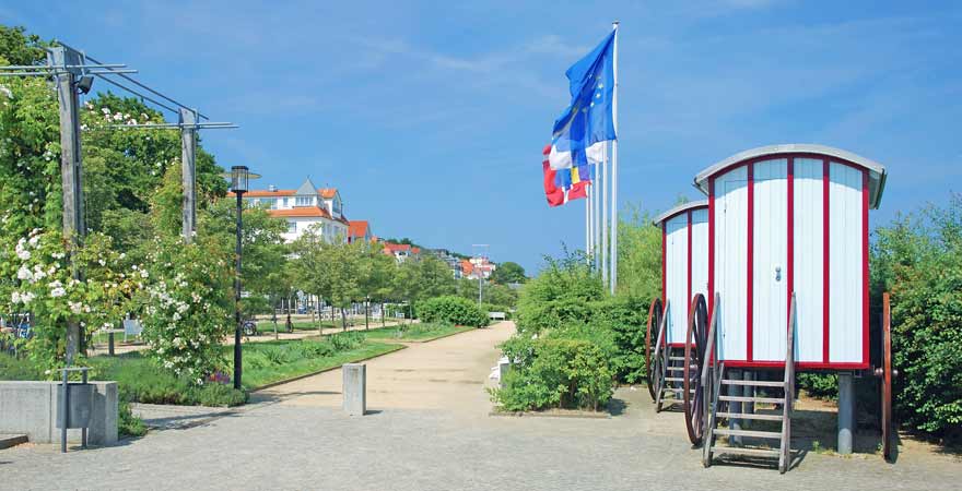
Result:
M895 414L936 435L962 435L962 196L876 230L872 301L892 294ZM878 319L878 314L872 315Z

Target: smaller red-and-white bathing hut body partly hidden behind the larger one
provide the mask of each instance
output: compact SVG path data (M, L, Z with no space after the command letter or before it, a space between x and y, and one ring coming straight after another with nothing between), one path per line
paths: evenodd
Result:
M655 218L661 228L661 302L668 303L667 342L683 345L695 294L708 290L708 202L684 203Z

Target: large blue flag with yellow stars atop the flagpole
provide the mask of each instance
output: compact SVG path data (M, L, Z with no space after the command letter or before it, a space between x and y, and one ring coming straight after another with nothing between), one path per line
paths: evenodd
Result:
M552 153L571 152L575 165L585 149L598 142L615 140L611 106L614 98L614 36L612 31L600 45L565 72L571 104L554 121Z

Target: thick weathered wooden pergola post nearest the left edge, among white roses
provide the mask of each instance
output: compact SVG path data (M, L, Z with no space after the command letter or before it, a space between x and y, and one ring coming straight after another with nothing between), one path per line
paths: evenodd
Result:
M79 52L61 46L50 48L48 62L54 67L80 65L83 58ZM70 262L73 278L80 280L80 271L73 260L73 249L81 243L84 235L83 224L83 164L80 153L80 99L77 95L77 81L81 69L58 69L55 72L57 99L60 106L60 179L63 191L63 237L73 246ZM67 323L67 366L80 350L80 324Z

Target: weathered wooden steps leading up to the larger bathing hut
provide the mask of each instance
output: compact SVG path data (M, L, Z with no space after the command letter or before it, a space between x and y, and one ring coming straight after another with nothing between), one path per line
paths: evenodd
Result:
M712 390L707 391L708 396L708 417L706 426L706 434L703 446L702 462L705 467L712 465L712 458L716 454L742 455L749 457L777 458L778 471L784 474L790 465L790 444L791 444L791 403L795 394L795 295L791 296L791 307L788 315L788 343L785 357L784 378L782 381L764 381L764 380L738 380L726 379L725 362L717 364L712 363L715 368L713 371L703 372L702 382L711 384ZM714 326L713 326L714 327ZM714 331L714 330L713 330ZM709 342L711 343L711 342ZM711 345L709 345L711 346ZM706 380L711 376L713 380ZM758 388L775 392L766 396L756 395L737 395L738 392L746 387ZM754 391L753 391L754 392ZM746 403L750 404L772 404L776 408L782 409L782 414L755 414L738 410L738 407ZM781 422L781 431L771 430L743 430L735 424L736 421L763 421ZM723 426L725 424L725 426ZM722 442L718 436L726 438L727 442ZM742 444L743 440L749 440L748 444ZM765 442L777 442L777 447L766 444Z

